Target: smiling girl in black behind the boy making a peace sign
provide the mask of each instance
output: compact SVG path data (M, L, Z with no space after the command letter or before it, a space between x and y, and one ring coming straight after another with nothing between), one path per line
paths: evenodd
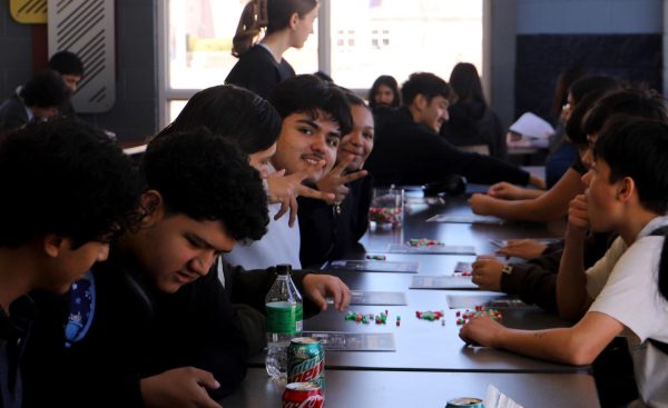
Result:
M370 176L354 178L366 175L362 168L373 150L373 115L362 99L350 92L346 97L351 105L353 129L341 138L337 165L316 183L322 191L336 192L336 200L298 199L299 260L306 267L320 267L326 260L341 259L369 226L373 180Z

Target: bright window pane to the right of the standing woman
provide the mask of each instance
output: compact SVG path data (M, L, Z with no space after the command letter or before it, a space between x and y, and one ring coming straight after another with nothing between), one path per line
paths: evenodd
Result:
M482 0L331 0L330 8L338 34L331 72L344 87L369 89L381 74L401 83L414 71L448 79L458 62L482 72Z

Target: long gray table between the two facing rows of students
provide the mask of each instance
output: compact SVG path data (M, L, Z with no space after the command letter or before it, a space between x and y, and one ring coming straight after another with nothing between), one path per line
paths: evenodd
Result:
M491 239L552 238L559 227L536 223L443 223L425 222L440 215L471 216L464 197L445 198L428 205L407 195L403 228L369 232L361 246L346 259L364 259L366 252L384 253L387 261L416 261L418 275L451 275L458 261L472 261L474 255L389 253L389 243L410 238L430 238L452 246L472 246L475 253L492 253ZM503 350L465 345L459 338L456 311L448 297L492 295L478 290L410 289L416 273L333 272L353 290L401 291L405 306L351 306L348 310L377 315L387 309L386 325L355 324L330 308L304 321L305 331L394 335L395 351L327 351L327 406L330 407L404 407L420 402L424 407L444 407L450 398L484 398L488 384L495 385L524 407L599 406L590 367L574 367L518 356ZM473 305L471 305L471 308ZM519 329L566 327L571 322L536 307L499 308L503 324ZM425 321L416 310L443 310L443 320ZM460 309L462 311L462 309ZM395 326L396 316L401 325ZM249 360L244 387L227 399L230 407L277 407L283 387L268 380L264 355ZM568 391L564 391L568 390ZM418 396L418 397L415 397Z

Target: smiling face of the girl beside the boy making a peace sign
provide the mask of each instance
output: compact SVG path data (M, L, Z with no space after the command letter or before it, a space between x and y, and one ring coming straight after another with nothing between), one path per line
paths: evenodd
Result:
M353 116L353 130L341 138L338 160L344 156L352 156L353 161L346 170L356 171L362 168L373 150L373 116L366 107L361 106L353 106L351 115Z

